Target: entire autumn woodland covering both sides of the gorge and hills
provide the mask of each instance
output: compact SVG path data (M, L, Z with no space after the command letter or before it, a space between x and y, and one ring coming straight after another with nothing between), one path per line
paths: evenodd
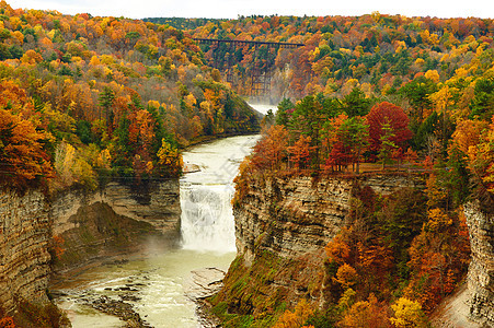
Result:
M462 204L494 209L494 21L378 12L148 21L0 2L1 183L94 189L176 176L181 147L257 128L234 92L249 94L244 77L262 67L283 101L241 165L235 204L260 175L427 180L388 197L359 190L351 224L325 248L332 303L268 315L277 327L426 327L467 272ZM193 37L305 46L254 57L249 46L200 49ZM208 67L214 51L235 59L234 83Z

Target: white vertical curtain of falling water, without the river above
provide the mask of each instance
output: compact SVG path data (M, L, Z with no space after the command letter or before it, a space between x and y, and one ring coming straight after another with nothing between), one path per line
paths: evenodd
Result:
M182 185L182 246L200 251L235 251L233 186Z

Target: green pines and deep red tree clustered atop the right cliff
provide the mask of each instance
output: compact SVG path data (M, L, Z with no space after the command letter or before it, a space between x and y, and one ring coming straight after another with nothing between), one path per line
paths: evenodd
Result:
M250 163L257 171L298 174L331 174L352 165L352 172L358 174L361 162L375 162L384 150L394 161L414 160L412 151L405 156L412 132L401 107L382 102L366 116L352 117L345 110L351 112L340 99L320 94L307 96L291 108L280 105L276 121L283 124L268 127Z

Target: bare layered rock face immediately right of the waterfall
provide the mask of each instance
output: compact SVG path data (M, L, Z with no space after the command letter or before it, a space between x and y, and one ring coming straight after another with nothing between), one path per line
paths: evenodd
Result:
M398 175L260 181L250 186L245 200L234 209L239 255L250 265L257 248L282 257L321 250L345 224L356 184L379 195L424 186L422 179Z

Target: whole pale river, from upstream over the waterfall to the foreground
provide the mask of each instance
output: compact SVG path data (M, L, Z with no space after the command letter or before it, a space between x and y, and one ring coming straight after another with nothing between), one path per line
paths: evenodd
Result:
M266 106L256 106L265 113ZM241 136L200 144L183 153L185 164L198 172L181 178L182 247L160 250L149 245L145 255L115 261L78 274L61 289L57 304L74 328L124 327L118 318L104 315L88 300L105 295L125 300L152 327L200 327L195 304L184 295L184 283L195 269L227 270L235 256L231 208L233 178L240 162L259 136Z

